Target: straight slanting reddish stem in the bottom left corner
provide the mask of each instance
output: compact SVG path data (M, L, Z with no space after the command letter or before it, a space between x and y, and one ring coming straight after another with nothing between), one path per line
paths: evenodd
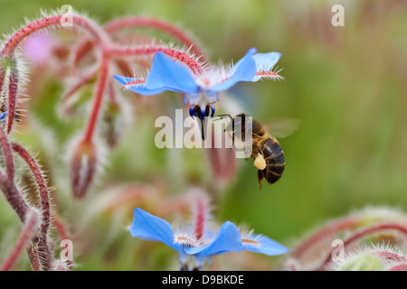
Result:
M31 210L30 213L28 214L27 222L25 224L23 233L21 234L20 238L18 239L17 244L15 244L12 252L5 260L5 263L0 267L0 271L9 271L9 270L13 269L15 262L18 259L18 256L21 255L23 248L28 243L28 240L30 239L30 237L33 235L33 232L37 225L37 221L38 221L38 214L34 210Z

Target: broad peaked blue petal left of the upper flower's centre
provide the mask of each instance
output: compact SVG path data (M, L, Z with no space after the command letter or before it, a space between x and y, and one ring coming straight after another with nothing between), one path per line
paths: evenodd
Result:
M146 79L146 88L185 93L199 91L199 86L196 84L191 72L162 52L156 52L150 73Z

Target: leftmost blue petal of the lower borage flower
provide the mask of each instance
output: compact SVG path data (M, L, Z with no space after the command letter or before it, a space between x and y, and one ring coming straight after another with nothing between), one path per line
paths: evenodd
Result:
M131 236L149 241L160 241L178 252L183 251L183 246L174 243L174 233L171 225L164 219L136 208L134 219L130 228Z

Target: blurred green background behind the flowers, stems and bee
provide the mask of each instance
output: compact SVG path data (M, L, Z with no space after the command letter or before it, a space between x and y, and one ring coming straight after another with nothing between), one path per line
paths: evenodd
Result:
M242 84L231 93L264 124L301 120L296 132L279 139L286 171L279 182L263 182L260 190L251 161L238 160L235 178L214 193L217 222L230 219L291 246L309 229L351 210L407 210L405 1L2 0L0 33L12 33L24 17L39 15L40 8L50 11L67 4L99 23L130 14L175 23L194 35L213 63L237 61L251 47L282 53L278 65L285 80ZM345 7L344 27L331 24L336 4ZM168 93L141 100L143 108L133 109L134 122L107 154L96 187L77 202L71 198L63 159L66 144L86 118L59 117L63 84L53 77L52 65L45 68L46 80L34 79L28 87L28 112L15 138L38 153L49 171L54 201L74 239L76 269L177 270L175 252L131 238L126 227L136 206L171 220L176 210L165 213L163 208L175 206L189 185L211 187L203 152L169 152L154 145L154 121L160 113L156 104L174 109L181 99ZM127 98L132 101L131 95ZM29 178L22 174L30 191ZM20 229L0 198L2 258ZM243 260L239 254L220 256L214 269L272 269L279 258L261 258L256 266ZM27 257L21 256L18 269L28 268Z

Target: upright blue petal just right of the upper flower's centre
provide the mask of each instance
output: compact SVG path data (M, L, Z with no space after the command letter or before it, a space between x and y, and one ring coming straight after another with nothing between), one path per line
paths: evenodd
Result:
M223 91L232 88L239 81L251 81L256 76L256 61L253 59L253 54L256 53L255 48L247 51L246 55L234 65L234 72L229 79L216 84L211 88L211 91Z

